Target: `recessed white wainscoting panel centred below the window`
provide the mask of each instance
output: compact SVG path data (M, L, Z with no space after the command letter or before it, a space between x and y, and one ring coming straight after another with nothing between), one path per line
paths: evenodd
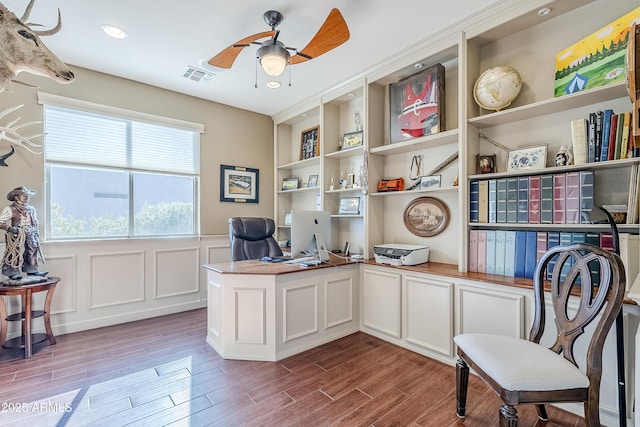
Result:
M89 254L89 308L144 301L144 251Z

